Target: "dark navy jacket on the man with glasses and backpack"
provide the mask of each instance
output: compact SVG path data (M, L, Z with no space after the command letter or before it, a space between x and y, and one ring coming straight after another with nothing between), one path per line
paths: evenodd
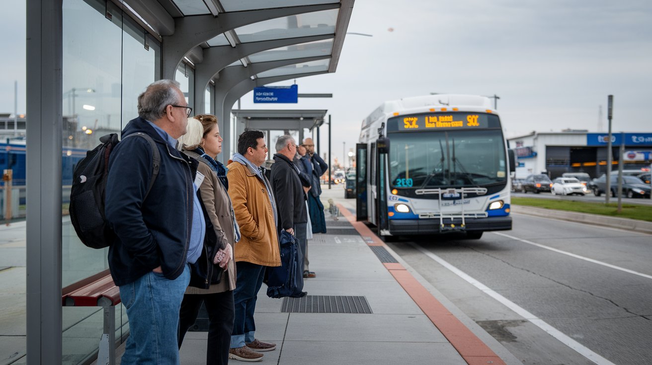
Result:
M146 133L161 157L156 182L143 201L152 174L152 148L141 138L121 141L111 152L106 183L106 219L117 239L109 248L109 269L117 286L161 266L175 279L183 273L192 228L192 182L197 161L172 148L142 118L122 135Z

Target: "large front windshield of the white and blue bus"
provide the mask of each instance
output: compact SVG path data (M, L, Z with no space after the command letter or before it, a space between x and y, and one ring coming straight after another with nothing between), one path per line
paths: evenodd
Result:
M388 133L390 185L482 187L507 182L500 129Z

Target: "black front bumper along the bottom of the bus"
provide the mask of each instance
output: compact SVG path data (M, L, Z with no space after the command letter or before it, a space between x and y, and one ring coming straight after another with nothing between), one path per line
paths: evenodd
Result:
M395 219L389 221L389 232L393 236L413 236L416 234L439 234L445 232L466 231L501 231L512 229L512 217L486 217L467 218L466 226L462 226L462 219L444 219L444 229L441 229L438 218L433 219ZM451 224L454 229L451 229Z

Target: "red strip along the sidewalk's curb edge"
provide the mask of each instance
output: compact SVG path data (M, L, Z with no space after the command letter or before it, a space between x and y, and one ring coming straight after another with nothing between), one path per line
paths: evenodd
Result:
M337 204L342 215L355 227L360 236L370 237L366 239L367 245L386 246L372 230L364 223L355 221L351 212L342 204ZM413 277L401 264L386 263L385 268L396 279L398 284L408 293L412 300L421 308L423 313L432 321L437 329L449 340L451 345L460 353L460 356L469 365L496 364L505 365L505 362L492 351L482 340L469 330L460 319L452 315L443 304L439 303L430 291L426 290L421 283Z

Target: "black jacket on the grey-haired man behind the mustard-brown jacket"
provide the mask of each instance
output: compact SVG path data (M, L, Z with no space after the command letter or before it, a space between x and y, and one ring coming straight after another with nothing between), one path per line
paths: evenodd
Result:
M278 230L294 228L297 223L307 223L306 194L301 187L299 170L282 154L274 154L271 180L276 208Z

